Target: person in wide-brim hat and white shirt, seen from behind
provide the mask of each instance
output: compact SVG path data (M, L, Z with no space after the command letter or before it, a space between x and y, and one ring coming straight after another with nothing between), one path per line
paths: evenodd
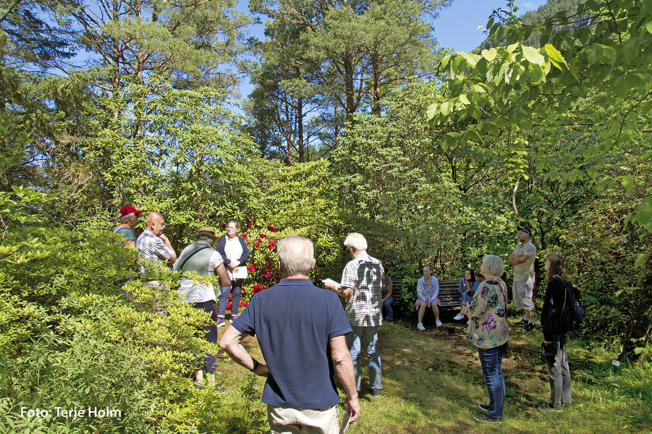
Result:
M200 276L215 276L220 278L220 287L228 287L231 283L226 268L224 268L222 255L213 249L213 244L219 237L216 237L212 227L202 227L194 237L195 242L186 247L177 261L174 263L174 270L185 274L196 272ZM192 303L192 307L202 309L211 314L211 325L204 327L207 341L217 343L217 312L215 310L215 290L213 284L203 285L183 276L179 286L179 299ZM215 354L206 354L203 366L195 372L195 387L203 387L203 369L208 373L209 384L215 383ZM218 385L218 391L224 392L224 388Z

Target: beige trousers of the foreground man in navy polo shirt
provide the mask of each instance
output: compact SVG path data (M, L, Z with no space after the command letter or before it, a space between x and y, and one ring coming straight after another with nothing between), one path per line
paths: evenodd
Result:
M338 434L337 406L326 409L286 409L267 404L269 431L272 434Z

